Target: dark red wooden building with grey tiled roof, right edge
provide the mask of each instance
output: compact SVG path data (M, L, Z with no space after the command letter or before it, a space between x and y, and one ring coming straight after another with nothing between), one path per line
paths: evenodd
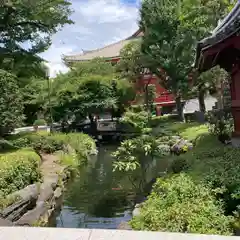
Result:
M219 65L231 76L233 137L240 137L240 1L215 28L212 35L197 45L195 67L199 72Z

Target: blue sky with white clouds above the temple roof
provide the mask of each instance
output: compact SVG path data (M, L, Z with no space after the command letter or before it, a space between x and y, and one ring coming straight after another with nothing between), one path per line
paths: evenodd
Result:
M41 56L48 61L50 76L66 72L63 54L81 53L129 37L137 30L141 0L71 0L73 25L52 37L52 46Z

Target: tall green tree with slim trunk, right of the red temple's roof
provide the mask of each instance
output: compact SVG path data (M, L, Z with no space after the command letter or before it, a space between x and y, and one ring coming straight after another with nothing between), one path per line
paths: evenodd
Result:
M174 93L181 120L184 119L181 100L188 91L195 44L217 25L226 6L230 6L230 0L144 0L142 3L142 51L151 59L151 71Z

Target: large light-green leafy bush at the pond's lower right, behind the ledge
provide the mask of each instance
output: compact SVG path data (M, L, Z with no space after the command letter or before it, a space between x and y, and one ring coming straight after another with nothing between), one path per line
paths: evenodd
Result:
M208 187L180 174L157 179L131 225L134 230L230 235L232 222Z

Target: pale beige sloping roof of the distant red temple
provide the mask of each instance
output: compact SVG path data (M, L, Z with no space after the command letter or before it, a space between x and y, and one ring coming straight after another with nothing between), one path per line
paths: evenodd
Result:
M75 62L75 61L88 61L96 57L102 58L114 58L120 55L121 49L126 46L131 41L138 39L138 37L143 36L140 30L136 31L132 36L127 39L121 40L119 42L107 45L103 48L99 48L91 51L84 51L81 54L75 54L70 56L64 56L63 59L66 62Z

